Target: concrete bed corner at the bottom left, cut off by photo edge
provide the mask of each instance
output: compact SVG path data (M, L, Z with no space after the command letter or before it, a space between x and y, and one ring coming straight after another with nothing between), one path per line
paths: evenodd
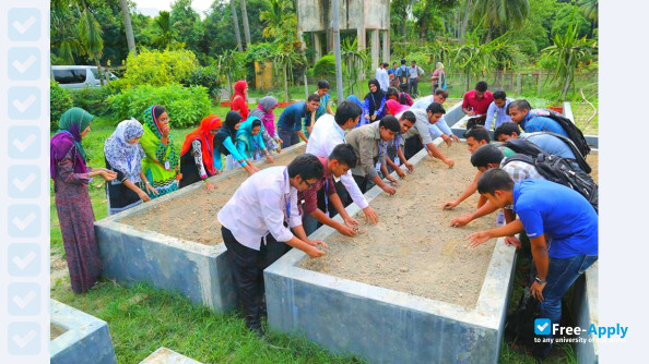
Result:
M60 336L50 341L51 364L93 363L116 364L108 324L55 300L50 302L50 323Z

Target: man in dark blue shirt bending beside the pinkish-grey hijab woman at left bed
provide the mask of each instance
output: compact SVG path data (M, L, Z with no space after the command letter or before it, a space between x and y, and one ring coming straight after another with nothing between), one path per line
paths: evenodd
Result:
M302 131L303 119L309 126L311 112L316 112L319 106L320 96L311 94L306 102L295 102L282 111L278 121L278 135L282 139L282 149L299 143L300 138L307 143L308 138Z

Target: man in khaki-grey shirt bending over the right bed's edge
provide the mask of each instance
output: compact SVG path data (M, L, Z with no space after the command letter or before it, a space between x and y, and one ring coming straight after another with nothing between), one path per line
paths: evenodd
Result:
M392 116L387 116L381 118L380 122L354 129L345 136L347 144L354 148L358 157L359 163L352 170L352 174L361 192L365 193L369 181L371 181L390 195L397 193L394 187L387 185L382 181L377 171L380 168L388 181L397 182L394 178L389 175L384 161L387 161L392 168L396 167L392 161L386 160L385 153L387 142L393 139L400 130L399 120Z

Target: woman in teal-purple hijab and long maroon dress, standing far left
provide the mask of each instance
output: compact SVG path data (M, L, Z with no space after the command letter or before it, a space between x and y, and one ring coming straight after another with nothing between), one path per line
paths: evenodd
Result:
M117 173L105 168L93 169L85 163L81 139L90 132L93 119L92 114L80 108L66 111L49 144L49 172L54 180L55 204L74 293L86 292L102 272L93 225L95 215L87 185L95 175L105 181L113 181L117 177Z

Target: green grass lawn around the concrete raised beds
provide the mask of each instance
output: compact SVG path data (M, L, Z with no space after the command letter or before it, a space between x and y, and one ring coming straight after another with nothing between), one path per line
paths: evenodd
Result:
M429 89L422 83L420 90ZM304 87L302 88L304 95ZM261 95L250 95L259 97ZM461 97L451 93L451 97ZM456 100L457 101L457 100ZM452 104L449 99L449 104ZM212 112L224 117L227 108L213 107ZM283 109L275 110L275 120ZM92 112L92 110L91 110ZM198 125L197 120L197 125ZM110 136L116 120L97 118L91 133L83 139L88 155L88 166L104 167L104 141ZM192 128L172 129L178 147ZM335 356L304 338L290 338L271 333L270 340L278 348L269 347L249 333L244 319L237 313L215 315L204 307L193 306L187 299L144 284L129 288L106 281L86 294L74 294L70 289L67 266L62 263L64 252L59 221L51 191L50 205L50 256L52 270L58 278L51 286L51 298L79 308L108 323L113 343L120 363L135 363L160 347L167 347L184 355L204 363L357 363L351 356ZM103 180L95 179L90 195L96 219L107 215ZM59 264L55 265L57 260ZM522 264L519 262L519 264ZM518 270L517 270L518 271ZM520 292L515 284L515 294ZM518 298L518 295L515 295ZM510 306L514 303L510 303ZM573 363L575 357L569 345L554 350L556 357L550 363ZM521 355L503 344L500 362L534 363L532 357Z

